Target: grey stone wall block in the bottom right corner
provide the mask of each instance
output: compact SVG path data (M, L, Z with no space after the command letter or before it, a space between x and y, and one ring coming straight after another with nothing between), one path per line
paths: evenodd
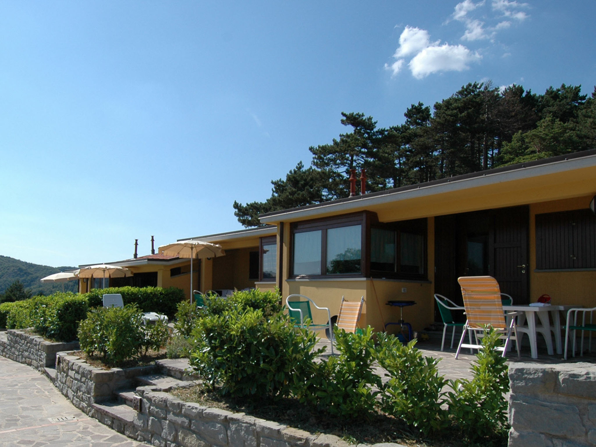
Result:
M596 366L511 364L509 447L596 445Z

